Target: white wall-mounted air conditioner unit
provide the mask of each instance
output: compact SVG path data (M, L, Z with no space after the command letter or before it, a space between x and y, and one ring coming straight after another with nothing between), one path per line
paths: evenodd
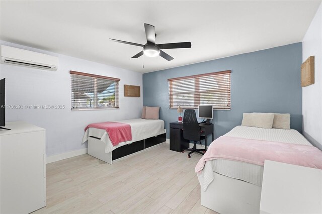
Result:
M56 71L58 57L2 45L1 63Z

